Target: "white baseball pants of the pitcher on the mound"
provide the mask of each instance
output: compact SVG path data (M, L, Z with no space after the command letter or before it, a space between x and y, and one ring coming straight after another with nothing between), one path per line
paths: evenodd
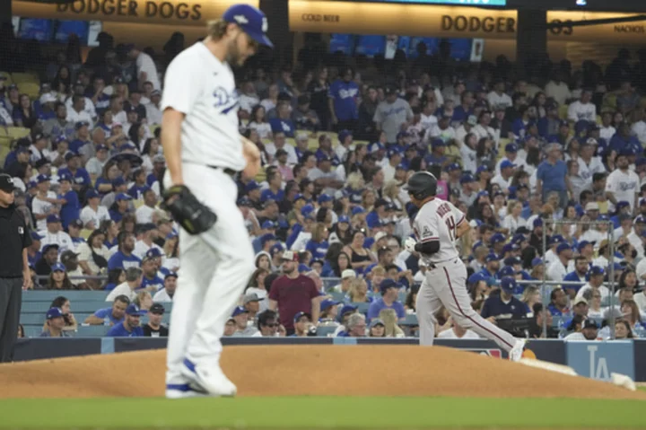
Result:
M182 166L184 183L217 215L208 232L179 232L179 276L170 315L166 383L180 384L181 364L219 365L224 324L253 273L254 254L235 181L219 169ZM167 178L164 179L168 183Z

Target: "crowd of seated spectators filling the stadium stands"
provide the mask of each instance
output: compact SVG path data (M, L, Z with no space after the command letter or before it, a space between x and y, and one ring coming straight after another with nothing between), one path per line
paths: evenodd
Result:
M181 250L159 207L160 106L164 67L188 42L178 33L157 54L99 40L48 61L2 41L0 167L31 226L34 288L60 290L42 336L83 324L166 336ZM238 179L258 269L225 335L415 336L429 268L402 247L416 210L403 185L428 170L467 214L458 248L485 318L596 339L614 317L616 338L646 336L646 52L527 67L401 54L306 46L276 74L264 53L237 71L240 134L263 171ZM544 276L563 282L546 307ZM75 320L69 290L105 290L106 304ZM437 325L439 338L477 338L444 311Z

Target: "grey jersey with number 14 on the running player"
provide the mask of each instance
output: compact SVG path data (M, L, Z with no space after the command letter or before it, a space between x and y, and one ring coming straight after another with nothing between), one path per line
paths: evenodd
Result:
M448 201L435 197L426 202L415 215L415 236L421 242L440 241L440 250L432 255L422 254L422 259L426 263L457 259L456 230L466 220L465 215Z

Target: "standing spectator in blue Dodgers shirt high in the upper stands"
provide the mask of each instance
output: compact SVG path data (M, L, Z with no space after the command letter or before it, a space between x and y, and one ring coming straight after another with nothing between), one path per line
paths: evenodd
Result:
M329 88L329 108L336 130L354 130L359 119L357 98L359 85L353 81L353 69L348 67Z

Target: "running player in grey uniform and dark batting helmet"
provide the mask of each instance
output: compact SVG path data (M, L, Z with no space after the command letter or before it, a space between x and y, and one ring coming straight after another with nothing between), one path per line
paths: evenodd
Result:
M408 195L419 212L415 215L415 240L405 241L406 250L418 252L427 264L422 287L417 294L417 320L420 345L431 346L435 337L435 312L441 305L461 327L490 338L509 353L512 361L522 356L525 341L516 339L482 318L471 307L467 294L467 268L459 259L455 242L471 228L465 215L450 202L435 198L437 179L427 171L418 171L406 184Z

